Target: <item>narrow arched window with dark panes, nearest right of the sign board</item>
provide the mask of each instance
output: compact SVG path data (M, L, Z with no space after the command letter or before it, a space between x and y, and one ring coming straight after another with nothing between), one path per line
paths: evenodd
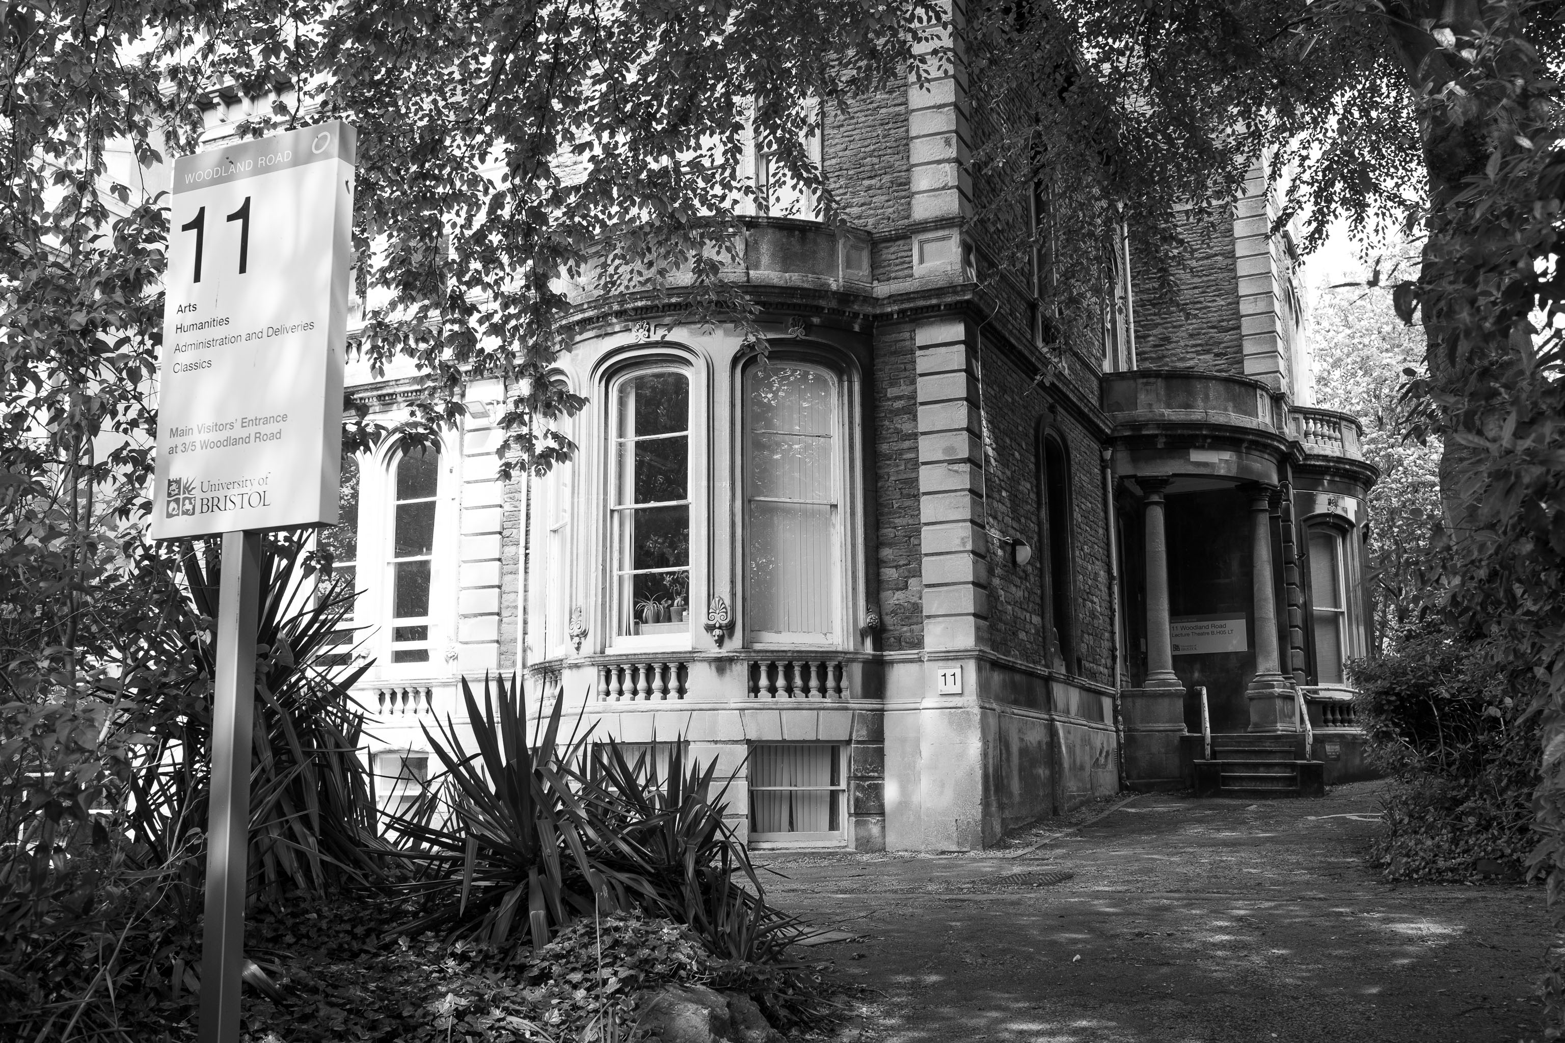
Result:
M429 661L429 583L435 554L440 450L413 447L396 461L391 513L391 661Z

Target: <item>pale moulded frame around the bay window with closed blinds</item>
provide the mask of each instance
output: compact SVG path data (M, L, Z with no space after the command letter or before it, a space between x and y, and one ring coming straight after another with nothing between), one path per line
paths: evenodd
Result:
M833 432L833 464L836 482L836 519L833 524L833 630L823 640L803 633L754 630L750 624L750 377L759 357L747 355L739 363L732 430L737 452L734 453L734 482L739 494L736 499L736 569L734 586L739 600L736 610L736 635L742 635L747 647L808 647L808 649L853 649L861 635L851 625L851 605L859 590L859 561L862 560L862 536L859 535L858 518L859 502L864 496L862 474L859 468L858 439L858 374L834 355L811 350L808 346L773 344L767 353L768 363L806 366L823 372L833 382L833 402L836 407L836 430ZM854 538L858 536L858 538Z

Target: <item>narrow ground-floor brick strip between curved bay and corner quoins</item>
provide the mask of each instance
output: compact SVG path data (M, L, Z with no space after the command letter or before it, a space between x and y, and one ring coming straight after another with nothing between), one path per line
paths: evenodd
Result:
M876 328L872 378L881 649L901 652L923 646L917 374L911 327Z

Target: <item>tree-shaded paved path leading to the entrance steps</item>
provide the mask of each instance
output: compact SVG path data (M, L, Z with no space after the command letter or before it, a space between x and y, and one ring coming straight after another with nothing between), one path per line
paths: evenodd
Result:
M864 935L812 954L876 990L848 1032L865 1043L1542 1035L1540 888L1377 882L1379 785L1144 796L1034 832L1058 837L1027 858L773 855L768 898ZM1050 871L1074 876L1003 880Z

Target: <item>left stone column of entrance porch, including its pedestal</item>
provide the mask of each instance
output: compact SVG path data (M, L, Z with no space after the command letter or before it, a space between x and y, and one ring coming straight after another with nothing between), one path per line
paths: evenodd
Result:
M1163 489L1169 475L1136 475L1146 494L1147 530L1147 680L1121 691L1125 721L1125 782L1131 790L1178 790L1185 785L1180 737L1185 733L1185 686L1174 674L1169 641L1169 566L1163 533Z

